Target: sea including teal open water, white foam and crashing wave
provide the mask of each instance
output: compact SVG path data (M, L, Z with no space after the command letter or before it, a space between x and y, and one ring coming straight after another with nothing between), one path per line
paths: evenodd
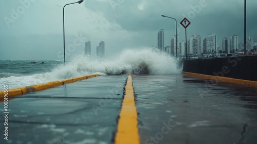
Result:
M153 49L127 49L120 55L106 59L93 59L84 55L71 61L32 61L44 64L31 64L30 61L0 61L0 89L23 87L89 74L177 74L181 72L176 60Z

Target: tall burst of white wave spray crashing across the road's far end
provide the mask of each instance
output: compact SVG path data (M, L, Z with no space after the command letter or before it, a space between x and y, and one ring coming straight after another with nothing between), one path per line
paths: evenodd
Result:
M105 75L119 74L177 74L181 69L176 68L176 61L167 53L153 49L124 50L115 60L96 60L78 56L72 60L70 69L76 73L99 73Z

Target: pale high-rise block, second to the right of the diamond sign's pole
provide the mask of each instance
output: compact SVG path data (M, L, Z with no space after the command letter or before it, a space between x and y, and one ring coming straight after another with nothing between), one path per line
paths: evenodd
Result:
M204 51L205 53L217 51L217 37L215 33L207 35L205 38Z

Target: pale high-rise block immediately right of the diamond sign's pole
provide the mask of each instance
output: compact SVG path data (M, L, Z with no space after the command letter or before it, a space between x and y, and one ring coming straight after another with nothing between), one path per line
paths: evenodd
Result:
M200 35L192 35L189 39L189 54L200 55L201 53L201 37Z

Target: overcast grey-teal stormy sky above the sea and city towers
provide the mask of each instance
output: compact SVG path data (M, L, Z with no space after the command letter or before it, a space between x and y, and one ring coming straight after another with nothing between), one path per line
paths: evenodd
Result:
M63 59L63 6L76 0L0 1L0 60ZM257 42L257 1L247 0L247 37ZM91 54L105 42L105 57L123 49L157 47L157 32L164 29L164 45L170 45L177 19L179 39L185 40L180 21L191 25L187 37L203 40L215 33L217 44L224 37L244 37L244 0L85 0L65 7L66 59L84 53L91 41Z

